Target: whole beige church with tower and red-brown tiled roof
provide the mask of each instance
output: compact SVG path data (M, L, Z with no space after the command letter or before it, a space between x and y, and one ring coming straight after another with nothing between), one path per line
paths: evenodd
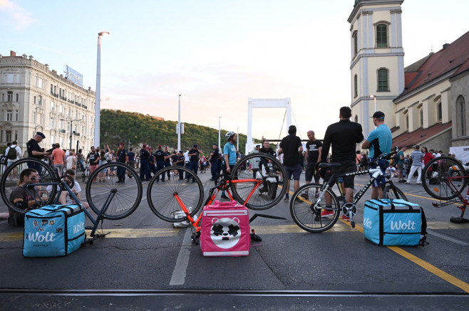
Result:
M393 146L421 144L448 154L449 147L469 145L469 32L404 68L402 3L355 1L348 20L354 121L366 137L374 128L370 116L381 110Z

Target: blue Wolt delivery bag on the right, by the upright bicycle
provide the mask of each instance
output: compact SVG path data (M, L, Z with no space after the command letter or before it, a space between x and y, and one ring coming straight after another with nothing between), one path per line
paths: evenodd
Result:
M365 202L364 235L380 246L423 246L427 221L421 206L403 199Z

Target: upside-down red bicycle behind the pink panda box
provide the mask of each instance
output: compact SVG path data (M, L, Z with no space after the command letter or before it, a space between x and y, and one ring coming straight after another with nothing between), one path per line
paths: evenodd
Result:
M263 165L259 167L261 163ZM196 216L197 211L202 206L212 204L220 191L226 191L231 201L237 201L255 211L269 209L276 205L287 191L287 180L283 179L284 167L269 154L249 154L237 162L230 175L218 176L215 186L210 187L204 204L202 204L204 198L202 181L192 170L177 167L179 178L175 176L165 182L158 181L160 175L170 169L174 168L161 169L150 180L147 189L148 205L153 213L164 221L190 223L192 241L195 243L200 236L202 219L202 215Z

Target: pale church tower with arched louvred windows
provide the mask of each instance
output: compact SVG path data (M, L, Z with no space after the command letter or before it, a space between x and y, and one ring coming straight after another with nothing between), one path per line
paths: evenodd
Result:
M373 112L396 125L393 99L404 90L401 4L404 0L356 0L349 16L352 121L364 137L374 129Z

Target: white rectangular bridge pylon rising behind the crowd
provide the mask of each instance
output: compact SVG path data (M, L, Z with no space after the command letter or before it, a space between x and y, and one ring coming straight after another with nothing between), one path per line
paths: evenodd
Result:
M287 126L292 125L292 100L287 98L251 98L247 99L247 142L246 154L254 150L252 140L252 108L285 108L287 110Z

